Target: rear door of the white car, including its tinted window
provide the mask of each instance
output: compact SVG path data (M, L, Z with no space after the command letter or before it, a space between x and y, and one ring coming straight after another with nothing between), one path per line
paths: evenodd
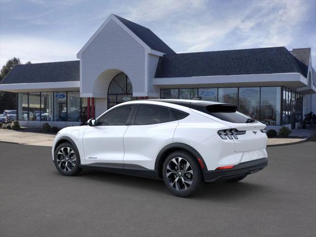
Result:
M172 109L157 105L138 105L124 135L124 169L129 164L136 168L138 166L139 169L154 169L159 151L172 143L177 125L178 120Z

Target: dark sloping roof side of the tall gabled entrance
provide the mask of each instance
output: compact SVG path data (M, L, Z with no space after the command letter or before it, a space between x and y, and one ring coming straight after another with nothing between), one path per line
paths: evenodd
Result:
M166 54L175 54L175 52L150 29L138 25L132 21L126 20L115 15L129 30L131 30L139 39L143 40L151 49L157 50Z

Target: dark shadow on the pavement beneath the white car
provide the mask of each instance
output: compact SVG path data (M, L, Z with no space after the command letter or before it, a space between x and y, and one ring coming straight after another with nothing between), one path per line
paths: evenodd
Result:
M172 195L162 180L147 179L135 176L121 175L110 172L103 172L98 170L82 170L77 177L92 180L93 182L104 182L111 185L118 185L125 188L133 187L137 192L148 191L155 192L157 195ZM244 197L251 198L258 197L258 193L266 192L269 189L268 185L262 185L255 182L247 181L246 177L243 181L238 183L210 183L205 184L192 199L211 200L218 202L234 201L236 199L243 199Z

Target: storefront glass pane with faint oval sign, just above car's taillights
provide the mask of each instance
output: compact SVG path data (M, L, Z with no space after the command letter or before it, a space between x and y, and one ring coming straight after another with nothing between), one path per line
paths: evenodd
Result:
M239 87L238 111L250 118L259 120L260 87Z

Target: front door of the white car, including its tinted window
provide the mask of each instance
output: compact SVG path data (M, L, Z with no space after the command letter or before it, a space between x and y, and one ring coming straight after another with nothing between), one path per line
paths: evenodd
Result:
M123 164L123 136L128 127L134 105L123 105L98 118L95 126L88 126L83 134L86 164Z

